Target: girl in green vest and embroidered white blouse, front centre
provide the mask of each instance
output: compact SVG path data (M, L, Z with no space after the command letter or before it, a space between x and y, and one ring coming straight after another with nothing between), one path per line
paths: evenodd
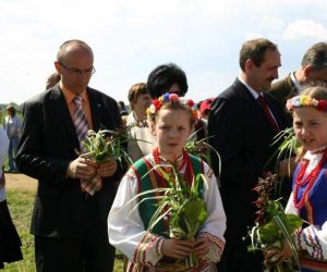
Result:
M109 240L129 258L128 271L216 271L215 262L225 246L226 215L213 171L184 150L195 122L195 104L174 94L165 94L153 101L147 113L157 147L136 161L122 178L108 218ZM171 238L169 215L148 231L159 200L140 201L137 196L170 186L161 172L171 170L167 165L174 165L189 184L196 174L205 176L198 196L205 202L207 218L194 238ZM191 255L196 256L198 264L182 264L181 260Z

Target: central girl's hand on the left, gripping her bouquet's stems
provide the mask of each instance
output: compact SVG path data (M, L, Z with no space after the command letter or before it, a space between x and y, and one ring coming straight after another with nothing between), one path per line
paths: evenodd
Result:
M174 259L184 259L193 250L193 240L165 239L161 247L164 256Z

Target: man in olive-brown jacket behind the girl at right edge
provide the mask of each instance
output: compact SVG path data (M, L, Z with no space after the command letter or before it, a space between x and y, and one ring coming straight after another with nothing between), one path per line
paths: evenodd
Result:
M274 83L270 94L278 99L280 107L286 109L289 98L299 95L303 87L311 83L327 84L327 44L313 45L303 55L301 67L287 77ZM292 126L292 115L283 110L287 126Z

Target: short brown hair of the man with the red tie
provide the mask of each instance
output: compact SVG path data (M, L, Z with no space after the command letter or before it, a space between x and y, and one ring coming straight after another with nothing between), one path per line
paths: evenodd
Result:
M267 50L277 51L278 47L274 42L265 38L247 40L243 44L240 51L240 67L245 71L245 62L252 60L259 67L265 61L265 52Z

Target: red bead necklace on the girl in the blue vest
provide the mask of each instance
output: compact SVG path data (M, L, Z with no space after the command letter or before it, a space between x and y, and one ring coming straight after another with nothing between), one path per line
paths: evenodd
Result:
M323 157L322 157L320 161L318 162L318 164L305 177L304 177L304 174L307 169L310 160L306 160L306 159L302 160L300 170L295 176L295 187L294 187L294 195L293 195L293 203L298 210L300 210L303 207L304 201L305 201L312 186L314 185L315 181L317 180L317 177L320 173L323 164L326 162L326 159L327 159L327 149L325 149L323 151ZM306 188L303 191L300 201L298 202L299 189L300 189L300 187L304 186L305 184L307 184Z

